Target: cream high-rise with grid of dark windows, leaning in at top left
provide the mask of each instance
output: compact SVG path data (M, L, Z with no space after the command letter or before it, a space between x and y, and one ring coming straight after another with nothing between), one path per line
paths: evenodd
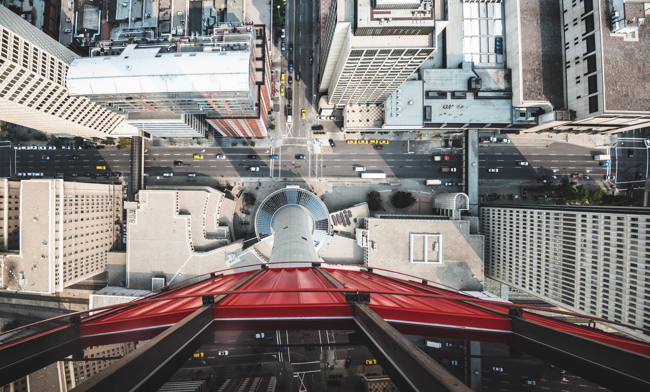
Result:
M0 5L0 118L62 136L131 136L123 118L66 88L78 56Z

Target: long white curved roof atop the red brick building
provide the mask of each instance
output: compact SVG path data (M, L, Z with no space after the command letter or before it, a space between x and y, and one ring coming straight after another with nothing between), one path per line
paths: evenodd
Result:
M119 56L74 60L66 83L73 96L248 92L249 72L250 51L159 53L132 45Z

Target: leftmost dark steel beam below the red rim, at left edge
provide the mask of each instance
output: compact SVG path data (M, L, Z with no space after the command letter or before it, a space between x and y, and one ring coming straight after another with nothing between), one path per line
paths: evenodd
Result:
M51 364L53 358L65 358L81 351L79 323L23 339L0 348L0 385L6 385Z

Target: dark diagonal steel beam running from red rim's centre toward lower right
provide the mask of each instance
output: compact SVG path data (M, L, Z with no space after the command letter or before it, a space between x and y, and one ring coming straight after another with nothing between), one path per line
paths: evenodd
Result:
M371 350L374 346L387 359L389 366L382 363L382 367L395 369L391 379L400 391L471 391L365 304L353 303L352 307L357 332L365 335Z

